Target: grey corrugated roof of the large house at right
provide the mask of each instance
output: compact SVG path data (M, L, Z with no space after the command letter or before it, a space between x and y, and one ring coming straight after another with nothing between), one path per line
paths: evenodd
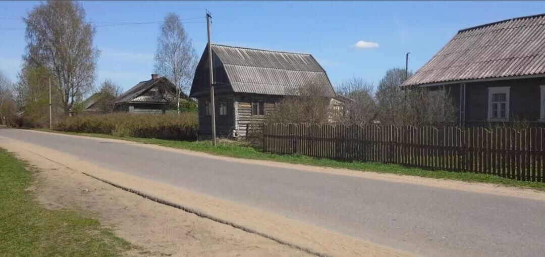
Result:
M545 14L462 29L403 86L545 74Z

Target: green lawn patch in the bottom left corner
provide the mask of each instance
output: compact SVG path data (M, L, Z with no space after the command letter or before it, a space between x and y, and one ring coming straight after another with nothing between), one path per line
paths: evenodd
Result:
M117 256L130 244L74 211L41 207L27 188L33 175L0 148L0 255Z

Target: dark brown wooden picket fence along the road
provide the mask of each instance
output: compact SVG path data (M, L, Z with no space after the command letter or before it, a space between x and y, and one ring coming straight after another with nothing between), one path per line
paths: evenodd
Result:
M544 128L265 124L263 150L545 182Z

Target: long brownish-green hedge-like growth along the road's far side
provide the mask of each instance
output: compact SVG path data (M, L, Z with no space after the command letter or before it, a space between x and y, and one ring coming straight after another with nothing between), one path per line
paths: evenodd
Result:
M151 114L110 113L77 115L60 121L57 130L77 133L99 133L135 138L194 140L198 119L193 112Z

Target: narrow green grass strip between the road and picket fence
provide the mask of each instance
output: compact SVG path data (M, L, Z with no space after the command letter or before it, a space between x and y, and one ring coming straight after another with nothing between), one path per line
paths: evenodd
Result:
M510 180L508 178L502 178L498 176L475 174L472 172L452 172L444 170L422 170L418 168L409 168L398 164L383 164L373 162L343 162L325 158L315 158L308 156L301 156L295 154L274 154L259 151L256 148L247 146L240 142L232 141L220 141L216 147L211 145L210 141L175 141L175 140L162 140L162 139L147 139L147 138L130 138L119 137L105 134L87 134L87 133L65 133L57 132L55 130L42 130L53 133L63 133L72 135L84 135L93 136L95 138L108 138L108 139L121 139L133 142L140 142L143 144L154 144L172 148L180 148L198 152L211 153L218 156L228 156L244 159L258 159L258 160L272 160L275 162L304 164L312 166L324 166L330 168L341 168L359 171L373 171L379 173L391 173L398 175L410 175L429 178L444 178L448 180L458 180L465 182L482 182L501 184L504 186L518 187L518 188L531 188L545 191L545 183L540 182L524 182Z

